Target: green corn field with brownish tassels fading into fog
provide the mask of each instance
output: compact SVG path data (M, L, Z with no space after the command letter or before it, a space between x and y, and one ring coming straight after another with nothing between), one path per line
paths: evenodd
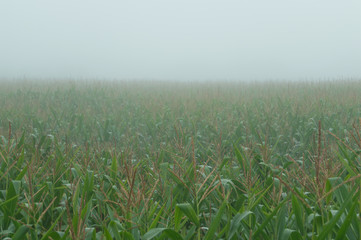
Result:
M0 87L2 239L360 239L361 82Z

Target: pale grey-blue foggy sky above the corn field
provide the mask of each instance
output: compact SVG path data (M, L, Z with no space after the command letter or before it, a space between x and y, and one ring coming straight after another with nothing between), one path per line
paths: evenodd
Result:
M0 77L361 77L360 0L2 0Z

